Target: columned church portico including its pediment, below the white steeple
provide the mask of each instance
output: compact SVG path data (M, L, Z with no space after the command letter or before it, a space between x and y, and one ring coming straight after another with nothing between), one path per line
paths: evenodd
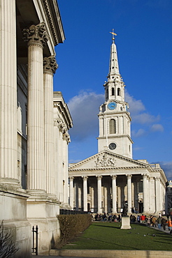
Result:
M159 196L159 201L156 200L155 188L157 185L158 189L159 179L150 176L148 166L136 161L138 166L116 167L119 162L117 155L112 157L108 154L110 154L108 151L101 155L99 153L83 162L78 162L80 165L78 163L78 165L73 165L73 169L69 171L69 175L72 174L70 180L73 181L70 184L70 192L74 192L71 207L78 211L94 213L121 213L124 205L127 205L128 213L160 212L161 210L159 207L156 208L156 205L161 202L161 196ZM128 161L132 160L128 158ZM89 163L90 168L87 167ZM87 168L79 169L82 164ZM150 190L150 181L152 185L155 185L154 190ZM74 191L73 188L75 188Z

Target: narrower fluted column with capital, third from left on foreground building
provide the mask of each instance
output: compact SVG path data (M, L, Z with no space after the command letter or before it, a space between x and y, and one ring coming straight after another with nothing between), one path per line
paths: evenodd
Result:
M54 134L53 134L53 75L57 70L55 56L43 59L44 123L45 123L45 174L48 194L55 194Z

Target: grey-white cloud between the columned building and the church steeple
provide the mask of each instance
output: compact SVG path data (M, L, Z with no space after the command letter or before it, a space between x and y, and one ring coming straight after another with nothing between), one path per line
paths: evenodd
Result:
M104 102L103 94L81 91L69 100L68 106L73 119L71 139L83 140L90 135L98 136L99 106Z

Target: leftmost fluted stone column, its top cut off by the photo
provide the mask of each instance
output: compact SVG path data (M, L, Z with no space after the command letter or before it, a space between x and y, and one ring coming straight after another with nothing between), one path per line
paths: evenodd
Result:
M0 6L0 181L18 185L15 0L1 0Z

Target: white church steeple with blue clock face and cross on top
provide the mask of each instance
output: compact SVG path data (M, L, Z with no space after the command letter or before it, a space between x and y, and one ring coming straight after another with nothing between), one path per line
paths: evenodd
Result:
M131 116L124 101L124 82L120 75L115 34L110 49L110 64L105 82L105 102L100 106L98 151L108 150L132 158Z

